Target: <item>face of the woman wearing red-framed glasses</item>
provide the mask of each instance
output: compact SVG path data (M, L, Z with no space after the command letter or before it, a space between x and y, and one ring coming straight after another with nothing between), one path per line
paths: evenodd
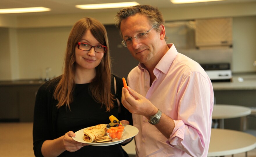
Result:
M90 30L87 30L82 39L79 41L82 43L88 43L89 45L96 46L101 45L93 36ZM104 53L95 52L92 47L89 51L80 50L77 45L75 48L76 55L76 68L83 70L92 70L99 65Z

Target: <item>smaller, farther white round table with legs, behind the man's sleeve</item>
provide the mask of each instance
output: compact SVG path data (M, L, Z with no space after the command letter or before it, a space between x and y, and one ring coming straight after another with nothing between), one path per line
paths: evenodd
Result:
M220 120L220 128L224 128L224 119L227 118L238 118L242 117L241 119L241 128L245 128L246 126L246 118L251 114L251 109L245 106L238 106L238 105L224 105L224 104L216 104L213 106L212 111L212 119Z

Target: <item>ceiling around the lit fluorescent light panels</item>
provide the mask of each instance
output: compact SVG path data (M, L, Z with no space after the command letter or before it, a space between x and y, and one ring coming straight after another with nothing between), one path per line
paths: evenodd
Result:
M53 15L53 14L73 14L73 13L86 13L86 12L109 12L118 11L120 8L112 9L95 9L95 10L82 10L75 8L75 5L80 4L99 4L99 3L116 3L136 1L139 4L150 4L157 6L158 8L177 8L177 7L189 7L189 6L206 6L206 5L219 5L229 3L245 3L256 0L226 0L215 2L202 2L202 3L190 3L190 4L173 4L170 0L1 0L0 9L7 8L27 8L27 7L46 7L50 8L49 12L35 12L35 13L15 13L5 15Z

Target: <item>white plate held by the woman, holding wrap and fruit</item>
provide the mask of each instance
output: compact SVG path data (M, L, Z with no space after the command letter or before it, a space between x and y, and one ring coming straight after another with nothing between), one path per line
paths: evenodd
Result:
M86 129L86 128L84 128ZM89 145L93 145L93 146L108 146L108 145L116 145L118 143L122 143L123 141L134 137L135 135L138 134L139 130L132 126L132 125L126 125L125 126L125 133L123 135L122 140L118 140L118 141L112 141L112 142L107 142L107 143L91 143L91 142L86 142L85 140L83 140L83 130L81 129L77 132L75 132L76 136L72 137L75 141L77 142L81 142L81 143L87 143Z

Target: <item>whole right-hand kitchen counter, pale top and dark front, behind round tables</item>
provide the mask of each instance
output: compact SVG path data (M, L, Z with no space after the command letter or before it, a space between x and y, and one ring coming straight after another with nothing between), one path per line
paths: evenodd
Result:
M256 107L256 73L232 74L232 82L213 82L216 104ZM225 119L226 129L240 130L241 119ZM248 129L256 129L256 119L247 117Z

